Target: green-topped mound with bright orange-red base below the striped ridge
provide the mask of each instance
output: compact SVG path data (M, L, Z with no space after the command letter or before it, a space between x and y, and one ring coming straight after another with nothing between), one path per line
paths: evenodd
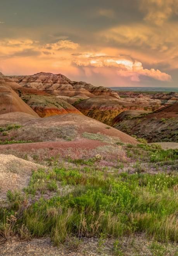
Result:
M21 99L24 100L42 118L67 113L82 114L71 104L51 95L39 96L25 94L21 95Z

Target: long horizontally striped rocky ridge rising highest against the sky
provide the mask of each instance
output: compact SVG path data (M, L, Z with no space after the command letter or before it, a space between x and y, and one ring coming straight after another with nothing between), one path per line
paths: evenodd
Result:
M37 73L32 76L9 76L12 80L23 87L42 90L51 95L76 96L85 95L109 95L119 99L118 93L103 86L93 86L86 82L71 81L62 74Z

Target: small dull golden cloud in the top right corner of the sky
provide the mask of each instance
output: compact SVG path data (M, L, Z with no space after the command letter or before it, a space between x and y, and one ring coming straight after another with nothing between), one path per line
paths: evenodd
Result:
M145 14L144 20L161 26L171 15L178 12L177 0L141 0L140 10Z

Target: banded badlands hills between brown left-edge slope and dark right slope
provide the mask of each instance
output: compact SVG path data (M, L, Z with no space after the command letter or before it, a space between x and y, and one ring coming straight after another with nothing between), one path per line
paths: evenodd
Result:
M127 110L155 111L176 103L177 93L139 94L114 92L103 86L71 81L62 74L37 73L9 76L19 96L40 116L77 113L112 125L119 113ZM8 79L7 78L7 79ZM19 88L18 86L19 85ZM73 106L71 106L73 105Z

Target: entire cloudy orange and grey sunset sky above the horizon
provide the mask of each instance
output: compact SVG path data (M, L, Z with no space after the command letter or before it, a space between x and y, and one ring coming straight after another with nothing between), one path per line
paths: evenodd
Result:
M0 72L178 87L178 0L1 0Z

